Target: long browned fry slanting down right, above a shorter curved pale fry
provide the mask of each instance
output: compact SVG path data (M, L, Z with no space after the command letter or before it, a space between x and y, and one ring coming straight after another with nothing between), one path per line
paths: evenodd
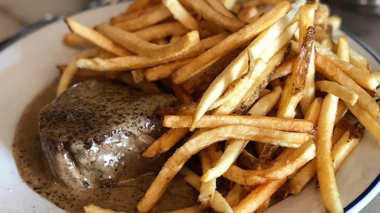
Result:
M377 119L379 114L379 105L375 100L350 77L348 77L341 69L335 66L329 59L317 52L315 61L316 69L326 76L329 80L335 81L342 86L351 89L359 95L358 104L371 116Z

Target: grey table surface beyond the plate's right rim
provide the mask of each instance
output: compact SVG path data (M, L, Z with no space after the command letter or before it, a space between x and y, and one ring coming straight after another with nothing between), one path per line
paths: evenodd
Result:
M371 16L331 7L331 15L342 17L342 30L358 36L376 53L380 54L380 15ZM380 210L378 194L360 213L376 213Z

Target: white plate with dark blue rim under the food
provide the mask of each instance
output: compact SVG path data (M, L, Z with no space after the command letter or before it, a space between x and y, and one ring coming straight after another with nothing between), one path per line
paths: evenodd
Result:
M73 16L87 26L106 22L125 11L128 3L116 4ZM58 77L57 64L68 63L76 50L65 47L62 37L69 30L54 22L0 52L0 212L64 212L22 182L12 157L16 124L27 104ZM354 39L350 46L364 55L374 70L380 61ZM336 178L346 212L359 212L380 191L380 146L369 132L344 162ZM300 195L290 196L267 213L324 212L321 197L310 184Z

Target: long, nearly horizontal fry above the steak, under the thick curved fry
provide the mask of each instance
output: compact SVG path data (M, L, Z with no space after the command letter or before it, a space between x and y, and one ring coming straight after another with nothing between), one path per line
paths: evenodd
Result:
M76 61L76 66L79 68L86 68L95 71L128 71L135 70L141 68L149 68L154 67L161 64L166 64L171 61L182 60L185 58L190 58L195 55L199 55L203 53L205 49L202 44L199 42L190 48L188 51L181 53L177 56L160 59L160 60L152 60L147 57L139 56L139 55L131 55L125 57L116 57L109 59L101 59L101 58L93 58L93 59L79 59Z

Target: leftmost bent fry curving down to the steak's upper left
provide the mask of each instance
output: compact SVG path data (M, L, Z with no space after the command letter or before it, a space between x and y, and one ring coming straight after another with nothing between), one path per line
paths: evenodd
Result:
M59 96L62 92L64 92L66 89L70 87L70 84L74 76L76 75L76 72L78 71L78 68L76 67L76 60L78 58L93 57L100 52L101 49L99 48L91 48L88 50L84 50L76 56L76 59L70 62L70 64L65 68L65 70L62 72L61 77L59 78L59 83L57 86L57 96Z

